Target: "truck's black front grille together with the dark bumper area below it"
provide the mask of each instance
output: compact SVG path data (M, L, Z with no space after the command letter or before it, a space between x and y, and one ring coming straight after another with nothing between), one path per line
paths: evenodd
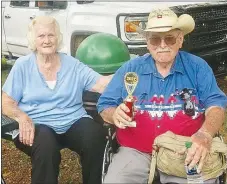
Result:
M207 61L216 76L227 74L227 3L174 7L179 15L189 14L195 30L185 36L183 50Z

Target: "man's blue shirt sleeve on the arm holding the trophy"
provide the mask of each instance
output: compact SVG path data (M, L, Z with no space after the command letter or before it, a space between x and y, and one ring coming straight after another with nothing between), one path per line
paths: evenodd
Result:
M100 96L97 103L99 113L109 107L117 107L123 102L122 89L124 85L125 70L125 67L121 67L116 71L112 80Z

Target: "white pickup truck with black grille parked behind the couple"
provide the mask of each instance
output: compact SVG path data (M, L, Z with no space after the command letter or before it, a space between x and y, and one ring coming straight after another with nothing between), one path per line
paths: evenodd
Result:
M104 2L80 1L3 1L2 54L22 56L27 48L28 23L38 15L50 15L60 23L62 52L74 56L87 36L105 32L121 38L130 53L147 52L144 39L131 23L142 29L149 12L157 4L166 4L176 13L191 14L196 21L194 32L185 37L184 50L203 57L216 75L227 72L227 1L196 2Z

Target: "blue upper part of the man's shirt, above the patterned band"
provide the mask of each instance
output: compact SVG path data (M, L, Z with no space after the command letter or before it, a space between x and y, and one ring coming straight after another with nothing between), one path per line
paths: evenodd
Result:
M226 95L218 87L213 71L206 61L187 52L179 51L170 73L165 78L157 71L150 54L125 63L118 69L101 95L97 104L99 112L109 107L118 106L127 97L128 93L124 86L124 75L127 72L136 72L139 77L139 82L133 93L137 98L137 107L143 108L156 96L164 98L164 104L167 104L171 96L187 88L191 89L192 95L199 100L199 110L211 106L226 108ZM180 100L180 103L184 102ZM182 108L182 106L179 107Z

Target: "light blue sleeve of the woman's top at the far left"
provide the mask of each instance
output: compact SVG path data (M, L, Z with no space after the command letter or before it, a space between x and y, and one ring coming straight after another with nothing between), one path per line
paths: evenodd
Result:
M23 67L20 59L13 65L3 87L2 91L19 102L23 95Z

